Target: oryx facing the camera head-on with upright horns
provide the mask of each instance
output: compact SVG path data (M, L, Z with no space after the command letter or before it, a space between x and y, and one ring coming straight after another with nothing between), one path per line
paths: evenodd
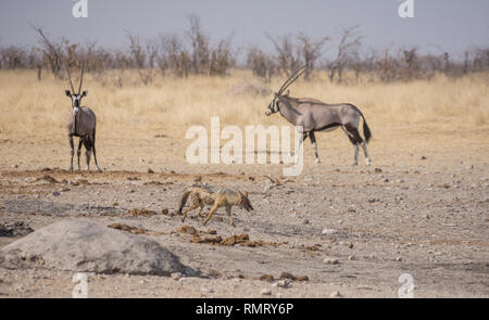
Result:
M66 72L68 75L72 91L65 90L65 93L72 100L73 106L73 111L70 114L67 121L70 146L72 149L72 161L70 165L70 170L73 171L73 155L75 154L73 145L73 136L75 136L79 137L78 150L76 152L76 155L78 156L78 171L79 171L79 154L82 153L82 143L85 145L86 149L85 154L87 156L87 170L90 169L90 151L93 150L93 158L97 166L97 170L100 171L99 164L97 163L97 154L95 148L96 126L97 126L96 115L88 106L80 106L82 98L87 97L88 93L87 91L83 91L80 93L82 85L84 81L84 71L85 64L82 64L82 75L79 78L78 93L75 93L72 77L70 76L70 68L66 66Z

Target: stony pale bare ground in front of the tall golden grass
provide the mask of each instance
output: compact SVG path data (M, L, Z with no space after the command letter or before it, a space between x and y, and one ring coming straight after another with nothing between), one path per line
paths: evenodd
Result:
M489 297L488 130L377 132L369 144L372 166L363 157L350 166L347 139L326 133L318 141L323 163L313 164L308 142L303 174L294 178L283 177L280 165L188 165L178 148L188 141L171 133L100 140L104 171L74 174L65 170L62 136L40 143L4 138L0 223L24 221L38 229L72 218L142 228L142 236L204 276L90 274L90 297L260 297L263 289L274 297L329 297L335 291L397 297L401 273L413 276L416 297ZM247 190L254 212L235 208L236 228L223 209L206 227L202 219L186 225L215 230L212 236L247 233L264 245L192 243L192 234L177 232L183 223L173 213L180 192L199 177ZM125 214L140 208L156 214ZM323 234L324 229L333 230ZM0 247L14 240L0 238ZM260 280L283 272L309 281L291 281L286 289ZM0 269L0 295L70 297L73 276Z

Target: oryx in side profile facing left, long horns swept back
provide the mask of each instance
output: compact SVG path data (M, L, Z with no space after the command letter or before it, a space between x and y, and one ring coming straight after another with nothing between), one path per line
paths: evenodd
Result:
M349 103L326 104L316 99L311 98L291 98L283 92L305 71L301 68L293 73L287 81L281 86L280 90L275 93L275 98L268 105L266 115L269 116L273 113L280 112L289 123L294 126L303 127L303 139L299 140L299 145L296 151L302 144L304 139L311 139L316 156L316 163L319 163L319 156L317 155L316 137L314 131L333 130L341 126L344 133L347 133L351 143L353 143L355 155L353 165L359 163L359 144L362 145L365 153L365 162L371 164L365 142L372 137L371 130L365 121L365 117L362 112ZM363 118L363 132L365 140L359 133L360 117ZM297 161L296 161L297 162Z

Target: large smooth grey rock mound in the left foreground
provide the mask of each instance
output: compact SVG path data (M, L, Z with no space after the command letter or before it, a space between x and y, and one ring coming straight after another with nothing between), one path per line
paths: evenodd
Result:
M83 220L62 220L12 242L0 251L0 266L8 269L196 276L154 240Z

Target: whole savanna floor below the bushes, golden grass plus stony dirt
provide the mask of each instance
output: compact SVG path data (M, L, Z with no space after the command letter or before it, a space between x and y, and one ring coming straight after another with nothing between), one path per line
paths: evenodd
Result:
M286 297L327 297L336 291L346 297L396 297L399 276L411 273L415 296L488 297L489 75L331 85L317 73L311 81L294 82L292 97L349 102L362 110L374 137L368 167L362 153L360 165L351 166L353 149L341 130L316 135L322 164L314 164L311 144L304 143L298 177L284 177L283 165L186 162L191 142L186 130L209 128L211 116L242 130L288 125L278 114L264 115L281 81L263 84L240 69L227 77L155 75L148 86L131 71L86 74L83 104L97 114L103 171L72 174L66 170L67 80L0 72L0 221L24 221L34 229L62 218L139 226L162 232L148 236L213 274L184 281L93 274L91 296L249 297L269 289L272 296ZM242 89L249 84L269 91ZM212 246L172 233L181 227L172 215L180 192L196 180L244 189L255 208L252 214L234 210L237 228L220 210L209 228L223 236L247 233L280 245ZM102 215L108 208L113 215ZM170 214L120 216L135 208L168 208ZM201 222L189 219L188 225L202 229ZM14 239L0 240L3 246ZM260 280L281 272L309 281L280 287ZM72 277L0 269L0 293L70 296Z

